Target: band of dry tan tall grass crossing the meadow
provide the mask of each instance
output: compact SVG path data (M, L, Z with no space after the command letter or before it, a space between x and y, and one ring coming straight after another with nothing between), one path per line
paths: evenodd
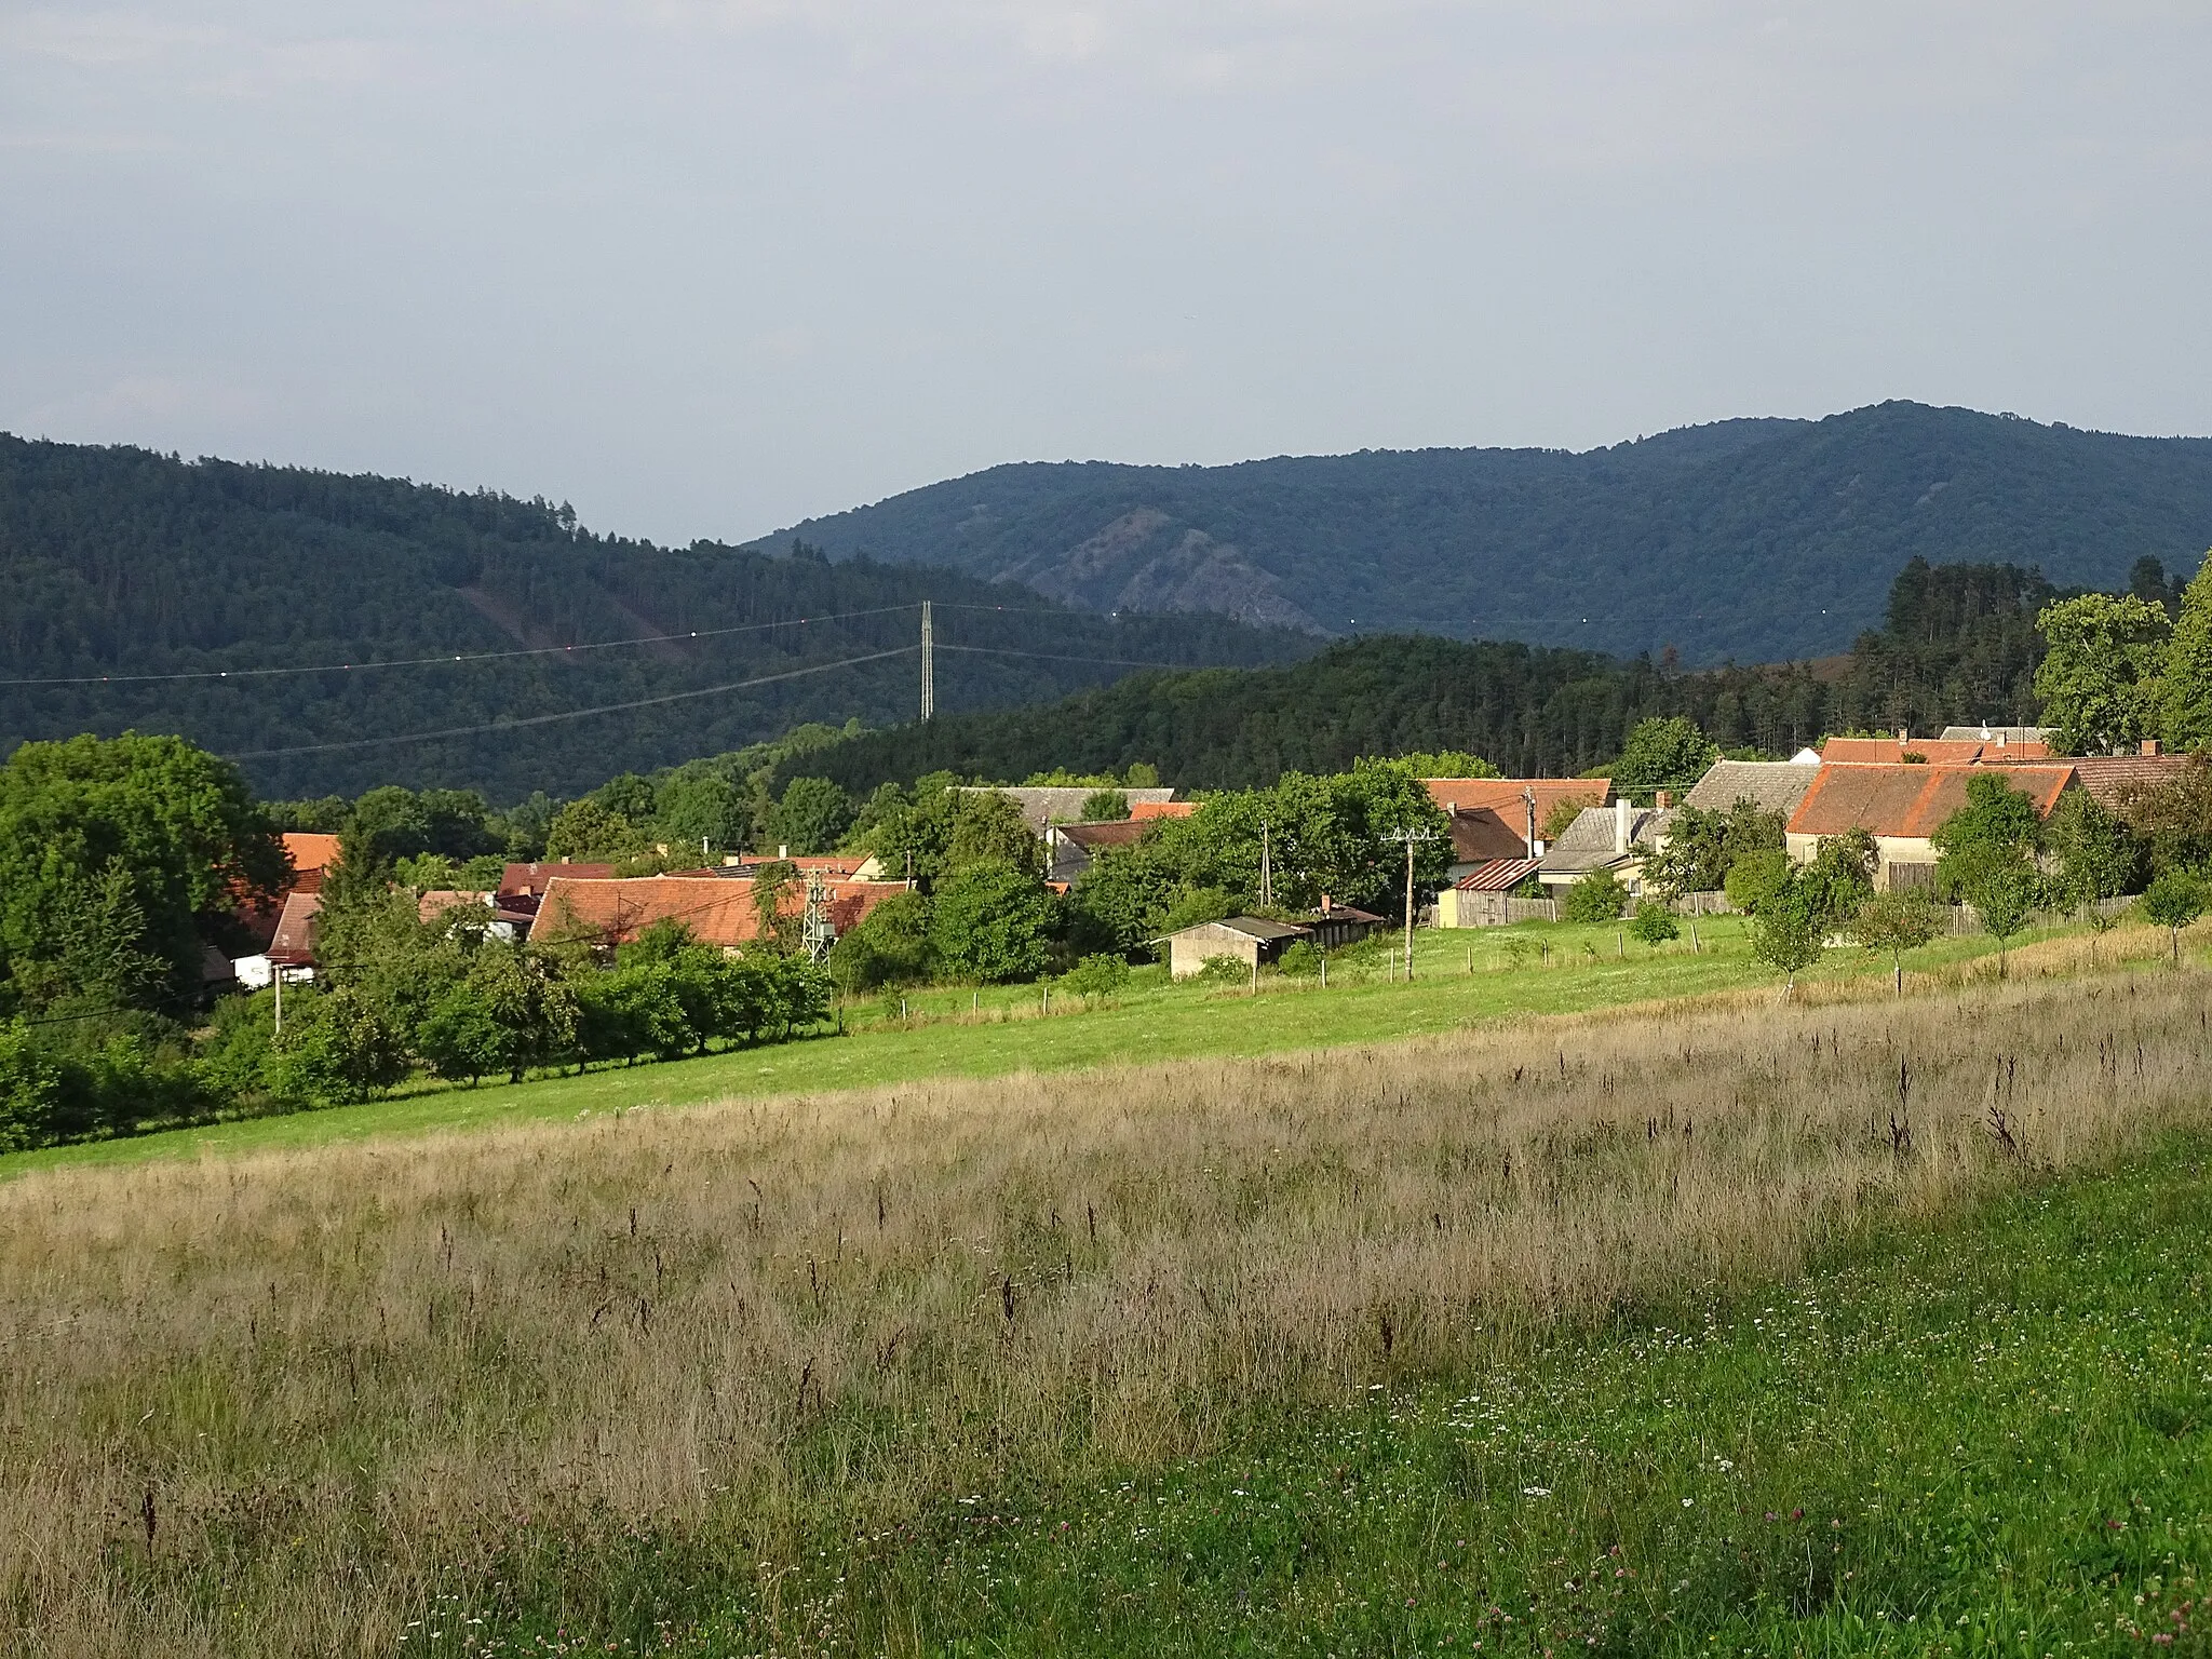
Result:
M624 1526L772 1573L825 1517L1194 1449L2106 1157L2199 1117L2205 1046L2197 973L2015 980L31 1175L0 1630L392 1652Z

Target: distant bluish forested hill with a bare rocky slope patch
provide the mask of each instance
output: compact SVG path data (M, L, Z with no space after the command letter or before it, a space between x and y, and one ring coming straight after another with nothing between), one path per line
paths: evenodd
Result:
M1876 626L1913 557L2075 586L2119 586L2146 555L2194 571L2212 440L1885 403L1588 453L993 467L796 533L1099 611L1785 661Z

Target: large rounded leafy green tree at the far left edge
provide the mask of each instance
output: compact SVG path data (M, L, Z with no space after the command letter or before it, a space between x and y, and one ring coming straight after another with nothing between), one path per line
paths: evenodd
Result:
M175 737L24 743L0 768L0 969L27 1006L181 1009L283 849L237 768Z

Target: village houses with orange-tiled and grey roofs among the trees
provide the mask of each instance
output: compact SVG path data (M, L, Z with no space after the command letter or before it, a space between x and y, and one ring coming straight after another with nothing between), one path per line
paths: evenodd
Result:
M1719 916L1756 905L1730 898L1728 867L1681 856L1681 830L1736 814L1765 823L1790 865L1809 867L1820 847L1865 836L1863 874L1871 894L1938 891L1938 832L1969 807L1975 779L2002 779L2037 823L2048 823L2075 792L2126 818L2159 790L2192 772L2188 757L2143 741L2137 754L2057 757L2042 728L1947 728L1938 737L1834 737L1783 761L1717 759L1688 790L1617 792L1613 779L1422 776L1449 845L1440 880L1416 880L1422 832L1400 832L1407 885L1398 905L1363 909L1318 894L1307 909L1267 902L1287 885L1276 847L1254 847L1261 869L1250 909L1208 916L1141 940L1175 980L1210 964L1256 975L1294 947L1321 958L1378 931L1482 929L1522 922L1613 920L1663 905L1681 916ZM1093 785L964 785L993 794L1020 814L1035 838L1035 869L1046 891L1071 894L1091 872L1201 812L1168 787L1104 790L1126 816L1084 818L1102 796ZM294 878L274 907L261 951L228 962L246 989L316 978L323 878L338 860L336 834L285 832ZM666 852L666 847L661 849ZM1670 852L1677 854L1670 863ZM1723 854L1725 856L1725 854ZM909 860L911 863L911 860ZM1436 865L1433 858L1427 860ZM1270 867L1274 865L1274 867ZM1688 876L1688 880L1686 880ZM1710 876L1712 880L1699 880ZM872 852L790 847L730 852L712 865L622 876L615 863L509 863L493 889L418 894L425 925L467 920L509 942L584 945L608 958L653 929L684 929L697 945L743 956L796 949L823 964L841 938L887 900L916 891L916 878L885 869ZM2088 894L2117 900L2126 891ZM1958 898L1947 894L1944 898ZM1971 914L1971 898L1964 907ZM1221 969L1214 975L1221 978ZM1325 975L1325 967L1321 969Z

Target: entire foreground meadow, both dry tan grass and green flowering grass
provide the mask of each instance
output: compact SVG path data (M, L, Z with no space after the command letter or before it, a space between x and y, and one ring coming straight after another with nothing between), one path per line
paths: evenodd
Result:
M0 1646L2190 1650L2208 989L33 1170Z

